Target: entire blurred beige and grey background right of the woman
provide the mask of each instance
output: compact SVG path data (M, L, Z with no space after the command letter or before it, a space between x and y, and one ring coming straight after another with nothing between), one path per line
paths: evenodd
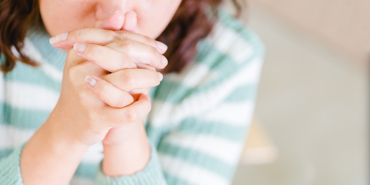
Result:
M243 21L266 58L233 185L370 183L369 10L369 0L248 0Z

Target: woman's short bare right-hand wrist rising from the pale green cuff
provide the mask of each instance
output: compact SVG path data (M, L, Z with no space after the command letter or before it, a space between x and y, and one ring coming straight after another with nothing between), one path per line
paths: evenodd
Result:
M143 122L126 125L122 134L124 142L104 144L102 172L107 176L134 174L149 161L151 149Z

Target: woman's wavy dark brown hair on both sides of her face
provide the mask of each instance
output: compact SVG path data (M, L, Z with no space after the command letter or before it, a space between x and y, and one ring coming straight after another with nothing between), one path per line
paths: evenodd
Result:
M179 72L194 59L196 44L212 31L217 20L218 6L223 1L182 0L171 22L157 39L168 46L165 56L169 62L164 73ZM232 3L239 16L240 3L237 0L232 0ZM3 73L13 70L17 60L37 66L35 61L21 53L28 29L37 24L42 24L38 0L0 1L0 54L5 57L0 70ZM13 46L19 56L11 51Z

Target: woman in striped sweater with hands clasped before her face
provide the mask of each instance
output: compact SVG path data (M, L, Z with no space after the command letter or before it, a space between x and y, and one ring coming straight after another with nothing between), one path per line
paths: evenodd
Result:
M0 184L231 184L263 47L220 3L2 0Z

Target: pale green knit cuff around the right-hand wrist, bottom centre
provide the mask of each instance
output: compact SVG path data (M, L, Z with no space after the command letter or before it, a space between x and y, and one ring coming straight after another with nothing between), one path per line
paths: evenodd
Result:
M151 154L148 164L141 171L127 176L109 177L102 173L101 162L95 175L96 185L166 185L157 149L149 140Z

